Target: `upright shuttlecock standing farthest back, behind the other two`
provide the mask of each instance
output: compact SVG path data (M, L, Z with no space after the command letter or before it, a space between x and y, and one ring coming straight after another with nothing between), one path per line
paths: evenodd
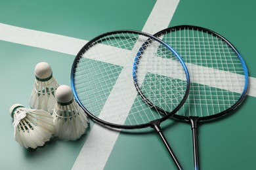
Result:
M53 76L49 63L41 62L35 65L35 83L30 95L30 107L32 109L43 109L53 113L56 99L54 94L60 86Z

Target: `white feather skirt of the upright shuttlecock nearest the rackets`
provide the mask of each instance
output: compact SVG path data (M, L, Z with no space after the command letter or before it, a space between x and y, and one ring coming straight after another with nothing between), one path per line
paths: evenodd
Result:
M89 126L87 115L73 101L70 105L56 103L53 111L54 136L64 141L75 141L83 135Z

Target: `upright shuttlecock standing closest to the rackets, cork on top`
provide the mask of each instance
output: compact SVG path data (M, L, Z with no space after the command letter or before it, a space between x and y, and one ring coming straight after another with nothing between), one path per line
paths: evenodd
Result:
M53 110L54 136L64 141L79 139L89 126L87 115L74 100L69 86L59 86L55 97L56 105Z

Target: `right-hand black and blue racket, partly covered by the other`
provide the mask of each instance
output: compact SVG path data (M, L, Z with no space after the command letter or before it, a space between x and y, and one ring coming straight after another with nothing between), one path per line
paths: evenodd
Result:
M238 50L209 29L179 25L154 36L172 46L190 72L188 99L173 117L191 123L194 169L199 169L197 123L224 116L242 103L248 87L247 67Z

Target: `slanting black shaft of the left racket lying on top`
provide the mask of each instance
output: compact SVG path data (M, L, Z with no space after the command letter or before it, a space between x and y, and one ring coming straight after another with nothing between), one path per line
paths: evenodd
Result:
M163 131L161 130L161 127L160 127L160 121L156 120L156 121L153 121L151 123L152 123L152 127L158 132L158 135L160 135L161 140L163 141L163 144L165 144L165 147L167 148L171 158L173 158L173 161L175 162L175 165L177 166L177 168L179 170L182 170L183 168L181 167L181 163L179 163L179 161L177 160L177 157L173 153L173 150L171 149L170 144L168 143L165 136L163 135Z

